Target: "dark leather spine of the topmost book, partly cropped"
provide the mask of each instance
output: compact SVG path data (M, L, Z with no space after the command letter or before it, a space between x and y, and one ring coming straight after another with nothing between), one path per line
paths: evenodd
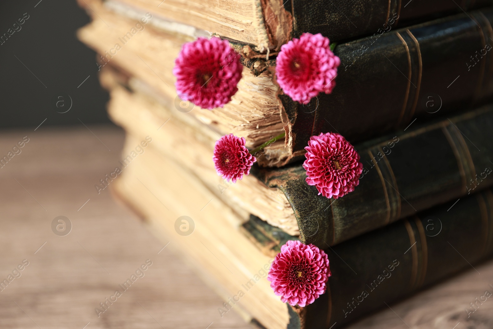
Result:
M282 1L284 2L284 1ZM491 5L491 0L293 0L284 7L294 17L293 36L321 33L332 41Z

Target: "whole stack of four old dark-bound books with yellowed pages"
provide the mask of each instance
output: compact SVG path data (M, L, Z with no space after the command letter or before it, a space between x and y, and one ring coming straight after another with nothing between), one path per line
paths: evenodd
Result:
M492 255L493 8L384 2L79 0L92 22L78 37L127 133L117 177L95 188L178 246L224 298L217 316L336 329ZM305 32L330 38L341 64L331 94L299 103L279 87L276 57ZM231 102L206 110L177 94L173 68L185 42L213 36L241 54L243 76ZM337 199L302 166L310 137L327 132L363 165ZM257 160L236 183L212 161L230 133ZM326 292L304 307L266 278L289 240L330 261Z

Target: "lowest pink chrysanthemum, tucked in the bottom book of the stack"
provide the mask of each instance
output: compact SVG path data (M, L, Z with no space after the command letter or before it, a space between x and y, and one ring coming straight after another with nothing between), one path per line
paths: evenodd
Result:
M274 258L267 280L283 303L304 307L325 292L330 275L329 259L323 250L288 241Z

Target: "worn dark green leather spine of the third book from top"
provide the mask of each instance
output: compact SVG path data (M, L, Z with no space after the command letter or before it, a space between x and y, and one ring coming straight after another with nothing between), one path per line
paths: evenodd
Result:
M492 141L493 106L368 141L355 146L363 163L359 185L339 199L317 195L301 164L255 175L284 192L301 241L325 248L489 187Z

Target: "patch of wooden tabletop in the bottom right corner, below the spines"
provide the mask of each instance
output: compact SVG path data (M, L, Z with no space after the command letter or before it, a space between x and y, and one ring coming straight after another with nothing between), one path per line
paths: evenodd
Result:
M493 261L489 260L400 303L389 304L347 329L490 329L493 296L484 295L493 293L492 286ZM481 303L481 299L486 301ZM470 303L477 305L476 311Z

